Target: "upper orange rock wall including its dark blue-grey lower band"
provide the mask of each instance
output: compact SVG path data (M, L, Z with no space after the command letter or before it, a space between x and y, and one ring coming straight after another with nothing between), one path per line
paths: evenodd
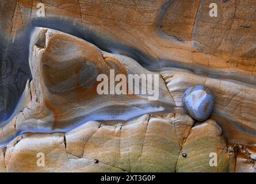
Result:
M209 16L212 2L217 17ZM45 17L37 17L38 3ZM80 37L144 67L186 68L255 85L255 6L251 0L1 1L1 118L12 114L32 78L28 34L35 26Z

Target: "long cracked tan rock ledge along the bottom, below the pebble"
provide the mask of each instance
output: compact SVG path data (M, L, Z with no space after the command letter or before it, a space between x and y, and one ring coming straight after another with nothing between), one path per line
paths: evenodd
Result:
M68 133L26 133L2 148L0 168L7 172L234 171L235 158L224 151L227 144L216 122L193 125L186 114L146 114L128 122L90 121ZM188 156L183 158L182 152ZM220 156L218 167L209 166L210 152ZM38 153L45 154L45 166L37 166Z

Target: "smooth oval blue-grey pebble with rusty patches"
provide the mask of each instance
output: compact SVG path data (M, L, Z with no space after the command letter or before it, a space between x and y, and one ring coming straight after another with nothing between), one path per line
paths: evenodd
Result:
M208 87L189 87L182 97L184 108L197 121L205 121L212 114L214 95Z

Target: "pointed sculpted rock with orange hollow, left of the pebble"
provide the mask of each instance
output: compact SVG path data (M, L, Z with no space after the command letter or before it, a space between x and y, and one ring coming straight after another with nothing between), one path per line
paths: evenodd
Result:
M91 120L129 120L146 113L174 111L162 78L157 101L151 101L151 95L135 94L135 88L128 85L127 91L133 94L98 94L98 74L110 77L110 70L125 76L155 74L130 57L101 51L77 37L45 28L35 28L29 51L33 80L27 82L16 116L3 122L0 144L25 132L66 132ZM142 91L144 86L139 87Z

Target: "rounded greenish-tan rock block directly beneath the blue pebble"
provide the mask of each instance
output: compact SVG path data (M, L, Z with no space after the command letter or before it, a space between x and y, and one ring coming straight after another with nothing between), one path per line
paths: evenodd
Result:
M177 162L178 172L227 172L235 170L235 158L229 156L224 149L227 146L224 137L221 136L221 128L214 120L196 123L191 129ZM211 166L209 156L217 154L216 166Z

